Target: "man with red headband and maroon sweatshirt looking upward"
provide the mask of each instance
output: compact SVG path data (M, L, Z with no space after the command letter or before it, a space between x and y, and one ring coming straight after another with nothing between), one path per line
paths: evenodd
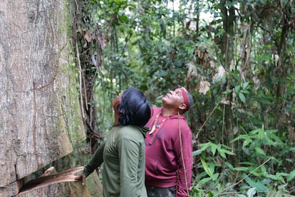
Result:
M192 106L185 88L169 91L162 107L152 107L145 126L145 185L148 196L189 196L192 176L192 131L183 113Z

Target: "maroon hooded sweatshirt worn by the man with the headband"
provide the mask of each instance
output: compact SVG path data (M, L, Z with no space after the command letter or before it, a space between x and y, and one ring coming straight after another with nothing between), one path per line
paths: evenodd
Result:
M145 138L145 184L160 188L177 186L177 196L189 196L192 131L182 114L162 116L161 112L162 107L152 107L152 117L145 125L150 128Z

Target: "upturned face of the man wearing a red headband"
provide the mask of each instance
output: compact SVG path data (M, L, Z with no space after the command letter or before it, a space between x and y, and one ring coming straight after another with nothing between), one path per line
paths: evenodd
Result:
M178 108L184 102L182 91L180 89L175 89L175 91L169 91L165 96L162 97L162 102L166 106Z

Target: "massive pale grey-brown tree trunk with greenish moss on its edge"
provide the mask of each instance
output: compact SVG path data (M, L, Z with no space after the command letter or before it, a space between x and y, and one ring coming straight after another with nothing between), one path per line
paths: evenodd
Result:
M85 138L70 21L66 0L0 1L1 195L15 195L19 180ZM67 189L56 190L68 196Z

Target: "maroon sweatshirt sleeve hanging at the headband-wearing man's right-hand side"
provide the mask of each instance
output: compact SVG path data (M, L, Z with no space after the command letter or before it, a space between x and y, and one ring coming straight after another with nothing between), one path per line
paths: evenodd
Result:
M189 196L192 179L192 131L185 123L181 127L179 143L176 143L177 151L177 197Z

